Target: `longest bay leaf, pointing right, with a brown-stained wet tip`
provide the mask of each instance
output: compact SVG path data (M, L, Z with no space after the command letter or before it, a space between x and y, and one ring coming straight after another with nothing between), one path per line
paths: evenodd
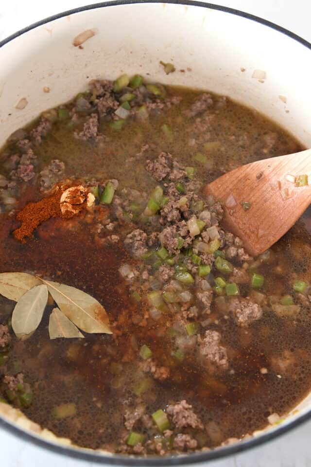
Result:
M64 315L82 331L112 334L104 306L95 298L75 287L40 280L48 286L49 292Z

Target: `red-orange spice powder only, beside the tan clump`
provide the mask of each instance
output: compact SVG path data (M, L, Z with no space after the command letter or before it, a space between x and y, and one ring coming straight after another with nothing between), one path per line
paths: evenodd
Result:
M62 213L60 198L66 187L62 188L63 189L57 187L55 193L48 198L43 198L36 203L26 204L26 206L17 214L17 220L21 221L21 226L13 232L17 240L25 243L26 238L30 237L42 222L50 219L51 217L69 219L81 212L83 205L81 205L81 207L79 206L79 209L76 209L74 212L67 211L64 214Z

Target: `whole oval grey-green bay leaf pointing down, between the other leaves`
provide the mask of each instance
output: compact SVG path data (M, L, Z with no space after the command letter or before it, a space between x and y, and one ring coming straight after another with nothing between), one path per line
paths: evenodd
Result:
M45 284L31 288L20 298L12 314L12 328L18 339L28 339L35 332L47 302L48 288Z

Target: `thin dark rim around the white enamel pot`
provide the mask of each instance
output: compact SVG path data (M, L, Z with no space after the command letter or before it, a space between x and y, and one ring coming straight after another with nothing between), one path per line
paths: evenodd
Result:
M4 46L11 40L15 39L22 34L35 29L38 26L42 26L45 23L53 21L55 19L63 18L65 16L73 15L75 13L80 13L82 11L93 10L96 8L104 8L108 6L114 5L129 5L129 4L137 4L137 3L162 3L162 0L112 0L112 1L104 1L100 3L93 3L91 5L86 5L83 7L74 8L72 10L65 11L63 13L58 13L57 15L50 16L48 18L42 19L37 21L26 28L17 31L16 33L12 34L11 36L3 39L0 41L0 47ZM291 31L279 26L267 19L259 18L255 15L251 15L249 13L242 12L240 10L236 10L234 8L229 8L226 6L215 5L213 3L205 3L202 1L192 1L192 0L166 0L166 3L172 4L180 4L180 5L190 5L190 6L198 6L202 8L208 8L212 10L219 10L224 13L230 13L232 15L240 16L242 18L250 19L251 21L256 21L264 26L272 28L279 33L284 34L285 36L291 37L296 42L299 42L304 47L307 47L311 50L311 43L308 42L306 39L303 39L300 36L292 33ZM123 466L175 466L175 465L186 465L186 464L196 464L196 463L203 463L208 462L213 459L223 459L226 456L234 455L241 453L247 449L253 448L255 446L259 446L263 443L276 439L278 436L293 430L295 427L305 423L307 420L311 419L311 410L307 413L304 413L294 419L291 422L284 423L284 425L280 425L276 430L269 431L266 433L261 434L260 436L249 438L245 441L241 441L229 446L225 446L218 449L212 449L207 452L197 452L193 454L185 454L182 456L164 456L164 457L134 457L134 456L124 456L113 454L111 456L101 454L100 452L91 451L87 449L75 449L72 447L56 445L52 442L46 441L43 438L39 438L35 434L28 433L20 428L18 428L13 423L4 420L0 417L0 427L9 431L10 433L18 436L20 439L23 439L27 442L31 442L41 448L49 449L55 453L63 454L69 457L73 457L80 460L85 460L88 462L96 462L106 465L123 465Z

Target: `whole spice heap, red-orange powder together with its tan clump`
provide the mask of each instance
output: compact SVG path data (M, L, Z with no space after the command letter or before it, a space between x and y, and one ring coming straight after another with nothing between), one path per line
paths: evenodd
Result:
M36 203L28 203L17 214L21 226L16 229L14 237L22 243L30 237L34 230L51 217L69 219L94 204L94 196L87 189L79 186L56 186L52 196L43 198Z

